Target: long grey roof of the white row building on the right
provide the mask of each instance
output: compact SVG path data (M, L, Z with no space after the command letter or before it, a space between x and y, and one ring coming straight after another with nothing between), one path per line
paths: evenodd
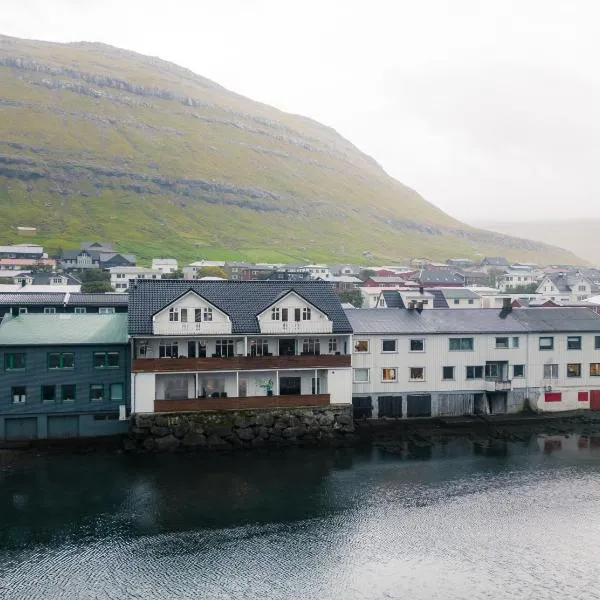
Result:
M347 310L346 316L360 334L477 334L599 332L600 315L589 308L524 308L505 313L493 308L461 310Z

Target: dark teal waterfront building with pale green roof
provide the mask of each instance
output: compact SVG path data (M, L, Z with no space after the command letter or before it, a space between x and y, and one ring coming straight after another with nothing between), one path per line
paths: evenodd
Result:
M127 431L127 314L7 315L0 354L0 439Z

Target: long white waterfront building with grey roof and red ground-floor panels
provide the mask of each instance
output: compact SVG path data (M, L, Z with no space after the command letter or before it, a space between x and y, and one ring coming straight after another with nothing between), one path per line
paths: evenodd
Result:
M590 309L346 314L358 415L600 409L600 316Z

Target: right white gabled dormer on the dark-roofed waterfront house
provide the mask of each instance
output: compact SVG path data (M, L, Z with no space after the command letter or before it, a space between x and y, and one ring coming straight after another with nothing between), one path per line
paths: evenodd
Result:
M331 333L333 322L323 311L289 290L257 315L261 333Z

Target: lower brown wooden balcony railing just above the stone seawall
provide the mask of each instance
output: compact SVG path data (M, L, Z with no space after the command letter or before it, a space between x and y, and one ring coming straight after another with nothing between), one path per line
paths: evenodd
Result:
M155 400L154 412L202 412L244 410L252 408L296 408L327 406L329 394L298 396L245 396L241 398L188 398L187 400Z

